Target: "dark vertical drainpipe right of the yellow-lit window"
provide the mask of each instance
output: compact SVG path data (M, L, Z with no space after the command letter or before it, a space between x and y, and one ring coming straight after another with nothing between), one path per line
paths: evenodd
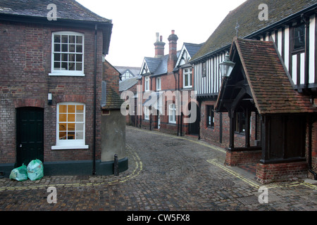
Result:
M92 143L92 174L96 174L96 110L97 110L97 25L94 25L94 138Z

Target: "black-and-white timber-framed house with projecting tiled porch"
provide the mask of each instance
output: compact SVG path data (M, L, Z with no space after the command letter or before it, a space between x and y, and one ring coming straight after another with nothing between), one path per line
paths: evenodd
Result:
M316 8L245 1L190 61L201 139L227 147L227 165L256 163L263 183L317 179ZM221 74L226 52L235 66Z

